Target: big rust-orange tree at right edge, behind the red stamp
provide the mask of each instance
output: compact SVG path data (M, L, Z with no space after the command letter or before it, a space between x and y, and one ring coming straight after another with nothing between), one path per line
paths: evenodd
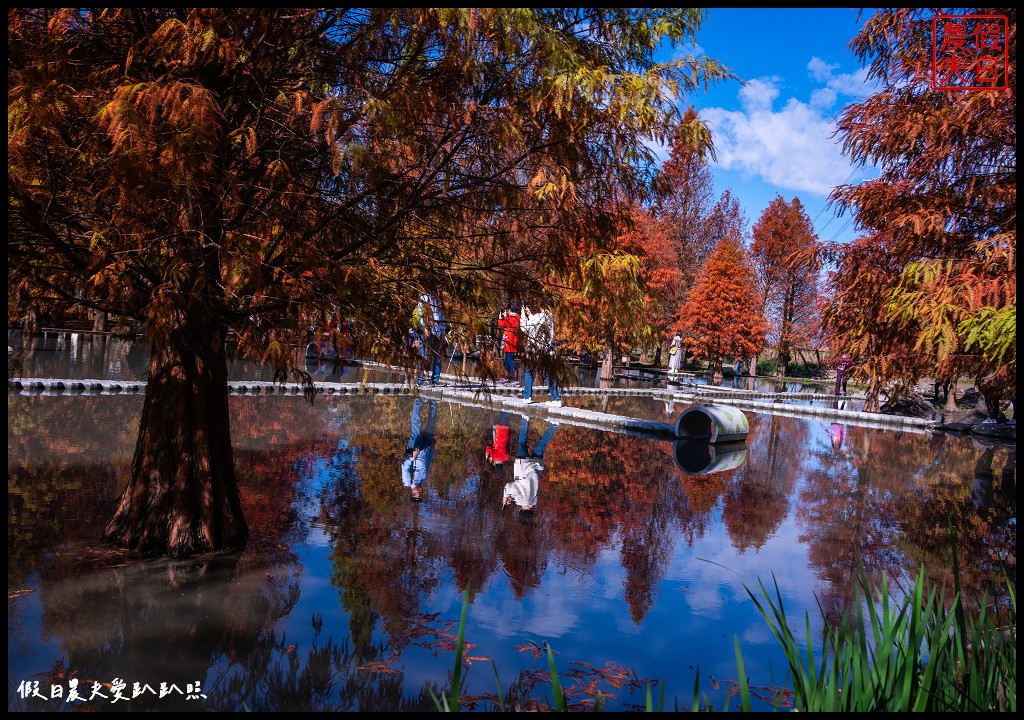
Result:
M957 11L878 11L851 43L880 89L844 111L838 132L847 155L881 173L833 192L863 237L824 248L838 268L824 328L872 385L899 394L908 373L969 374L998 417L1017 382L1017 11L972 8L1009 20L1005 90L936 88L937 13ZM884 301L864 302L868 288Z

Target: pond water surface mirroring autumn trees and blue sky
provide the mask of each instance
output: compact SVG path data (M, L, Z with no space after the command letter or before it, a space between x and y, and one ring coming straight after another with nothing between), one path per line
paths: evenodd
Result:
M132 344L72 344L9 376L143 377ZM564 399L666 421L687 408ZM609 710L642 709L648 683L667 708L689 708L695 679L716 709L736 708L735 643L764 703L786 674L748 592L761 598L761 583L818 646L825 617L855 602L858 561L897 594L923 562L948 586L947 518L966 593L998 588L1000 561L1016 582L1014 444L748 412L746 442L716 458L413 395L232 395L252 541L129 562L97 539L127 480L141 395L10 391L7 403L8 711L432 711L467 588L464 710L493 710L499 682L518 709L550 703L546 645L577 709L597 692ZM431 415L413 502L401 466L416 419ZM521 431L527 455L544 450L532 513L503 502ZM496 451L509 462L488 462ZM73 683L82 698L69 702Z

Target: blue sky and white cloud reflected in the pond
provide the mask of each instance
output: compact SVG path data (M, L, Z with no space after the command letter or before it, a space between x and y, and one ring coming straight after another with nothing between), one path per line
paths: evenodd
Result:
M86 354L78 352L76 356L81 361ZM105 398L104 401L117 400ZM125 401L137 404L138 397L125 396ZM371 405L377 401L370 398L325 398L323 404L316 406L307 425L303 426L310 430L309 436L313 438L326 434L340 436L337 442L332 440L330 444L317 444L315 452L305 454L299 461L300 481L296 488L296 510L301 518L302 532L295 533L296 539L289 545L297 566L269 570L280 573L281 577L294 577L295 582L300 585L298 604L274 630L303 649L310 648L314 642L310 624L313 616L322 616L324 619L324 630L315 639L321 646L328 637L333 638L336 643L343 642L348 637L350 619L341 605L338 588L331 585L336 571L332 528L319 525L315 518L321 512L322 494L329 483L336 481L342 474L346 481L350 480L355 484L359 481L358 449L349 443L352 436L350 433L361 430L359 416L353 409L361 406L361 412L366 412L368 407L385 407ZM578 407L590 404L591 407L596 407L599 398L594 396L571 397L568 404ZM412 399L402 397L396 403L400 407L391 410L400 425L384 427L382 423L381 431L393 433L393 436L401 437L404 441L409 431L408 409ZM650 413L648 417L652 419L665 418L665 404L655 398L613 397L609 399L607 407L613 413L636 417ZM686 404L677 403L674 406L675 412L682 412L686 407ZM490 427L492 417L481 415L489 414L490 411L460 409L460 406L447 404L444 408L444 417L453 416L460 423L476 423L480 428ZM758 438L749 446L746 467L750 467L752 463L756 465L766 462L762 442L765 434L754 433L765 433L765 423L770 420L770 416L758 413L748 413L748 416L751 419L752 437ZM381 420L375 417L374 422L381 423ZM374 427L378 425L375 424ZM841 451L844 459L834 466L828 465L834 451L829 438L830 423L826 420L786 419L780 427L793 429L794 435L800 437L800 442L803 443L802 447L794 448L790 432L779 435L779 452L782 455L800 456L799 462L794 465L798 476L786 478L786 482L778 484L779 489L785 489L788 493L788 512L777 526L773 526L771 534L764 538L759 548L737 550L734 547L734 541L723 521L723 503L719 499L692 547L686 545L679 533L670 534L670 547L667 548L665 562L657 566L657 571L663 577L651 588L652 603L639 621L634 621L631 617L626 600L627 573L623 566L623 539L615 535L604 541L597 549L592 564L586 567L563 566L558 551L552 551L546 558L547 567L540 585L526 589L518 599L508 577L499 565L486 580L485 586L475 589L474 602L469 608L466 636L476 645L473 653L490 658L507 687L508 682L521 670L547 670L544 657L534 659L529 653L515 649L515 646L524 645L528 641L543 643L550 640L558 653L556 661L559 669L566 669L572 661L585 661L598 668L606 662L612 662L635 669L640 677L664 678L668 698L674 695L687 698L692 691L693 666L699 665L702 675L712 674L720 680L735 679L733 638L738 636L743 643L742 651L748 668L759 673L760 681L764 682L769 677L769 668L776 678L784 676L784 657L771 636L767 623L748 595L744 584L764 601L760 596L759 581L764 583L772 597L774 583L777 583L788 610L792 630L797 637L804 639L805 612L810 613L812 633L819 632L820 621L815 599L819 581L810 566L809 541L806 538L801 540L802 533L808 535L808 528L799 525L796 520L801 502L800 493L804 490L807 474L824 466L836 473L837 484L842 492L842 480L854 471L854 458L848 435L846 447ZM74 433L75 428L69 428L69 431ZM873 432L861 429L859 436L867 436ZM75 435L75 438L79 441L79 435ZM909 448L912 444L907 443L927 442L929 436L906 433L898 439L901 447ZM553 447L557 447L559 441L564 440L554 440ZM959 438L949 438L949 441L970 442ZM653 441L638 439L635 444L628 444L628 450L634 452L634 449L639 449L635 452L643 452L643 442ZM968 462L974 461L968 458ZM964 470L968 477L972 471L972 468L967 467L945 469L953 475ZM926 472L937 470L921 470L923 474ZM458 480L462 492L467 496L478 492L480 478L477 474L467 470L466 477ZM418 513L421 527L425 530L451 522L450 516L436 514L429 502L419 506ZM678 520L670 520L670 523L675 522ZM675 525L670 524L670 527ZM485 540L486 538L481 538L481 542ZM446 558L440 558L439 562L445 560ZM461 612L462 592L451 577L442 580L434 591L419 599L419 609L423 613L437 613L438 625L457 623ZM20 668L32 668L33 672L40 672L47 669L47 665L52 667L52 659L60 657L60 642L52 637L42 637L39 631L40 608L37 597L30 595L8 604L9 666L17 668L18 672ZM378 627L374 639L383 643L388 638ZM428 680L443 681L451 670L451 653L434 654L432 649L413 648L402 654L396 667L403 672L404 684L412 691L422 687ZM228 661L224 660L223 663ZM217 675L216 670L211 670L211 678ZM474 664L469 682L470 692L493 692L495 678L489 662ZM706 689L710 691L710 687ZM688 702L687 698L684 704ZM717 705L720 707L720 702Z

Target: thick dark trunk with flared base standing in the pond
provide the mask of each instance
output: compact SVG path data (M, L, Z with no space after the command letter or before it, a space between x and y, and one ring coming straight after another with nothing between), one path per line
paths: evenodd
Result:
M222 328L185 320L154 341L131 477L103 539L143 555L242 547Z

